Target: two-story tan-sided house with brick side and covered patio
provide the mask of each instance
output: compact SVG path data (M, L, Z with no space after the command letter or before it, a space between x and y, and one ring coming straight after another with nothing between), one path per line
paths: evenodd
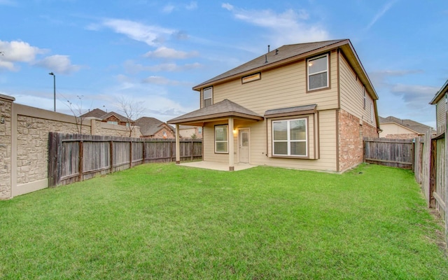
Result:
M193 90L200 109L168 123L202 127L203 160L229 170L344 172L363 162L363 137L378 137L377 93L348 39L283 45Z

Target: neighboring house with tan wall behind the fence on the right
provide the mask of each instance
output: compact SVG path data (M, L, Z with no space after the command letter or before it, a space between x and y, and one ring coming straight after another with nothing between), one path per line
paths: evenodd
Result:
M393 116L379 117L381 132L379 137L388 139L414 139L426 134L429 130L435 134L433 127L414 122L414 120L401 120Z

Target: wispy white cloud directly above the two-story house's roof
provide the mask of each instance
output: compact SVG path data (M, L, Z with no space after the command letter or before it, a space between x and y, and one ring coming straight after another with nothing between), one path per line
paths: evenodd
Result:
M237 20L268 29L269 41L274 45L327 40L329 35L318 22L311 22L307 10L288 9L283 13L273 10L246 10L230 3L222 8L229 10Z

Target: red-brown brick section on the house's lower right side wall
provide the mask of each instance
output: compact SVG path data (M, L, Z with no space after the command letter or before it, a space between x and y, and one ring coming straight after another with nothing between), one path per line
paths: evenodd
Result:
M378 137L377 128L339 110L339 172L363 162L363 137Z

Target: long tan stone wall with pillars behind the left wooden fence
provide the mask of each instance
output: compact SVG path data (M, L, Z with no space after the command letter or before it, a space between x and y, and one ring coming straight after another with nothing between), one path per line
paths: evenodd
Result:
M73 116L14 104L0 94L0 200L48 187L48 133L77 134ZM129 136L122 125L83 121L83 134ZM133 137L140 137L134 127Z

